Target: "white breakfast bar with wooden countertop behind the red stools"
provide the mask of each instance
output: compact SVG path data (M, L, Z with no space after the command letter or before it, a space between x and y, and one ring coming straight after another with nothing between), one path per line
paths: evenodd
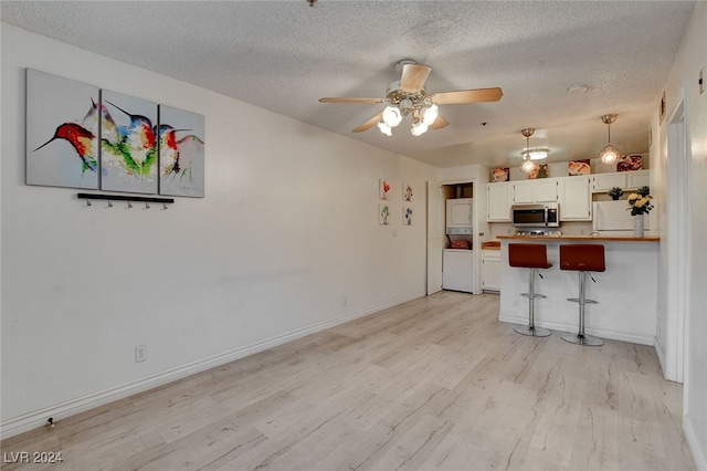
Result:
M659 238L591 236L498 236L500 239L500 312L498 320L528 323L528 273L508 264L508 244L547 245L550 269L536 280L536 291L546 295L535 302L535 324L550 331L577 332L577 272L560 270L561 244L604 245L606 270L587 279L587 297L598 304L587 306L589 335L636 344L653 345L656 336Z

